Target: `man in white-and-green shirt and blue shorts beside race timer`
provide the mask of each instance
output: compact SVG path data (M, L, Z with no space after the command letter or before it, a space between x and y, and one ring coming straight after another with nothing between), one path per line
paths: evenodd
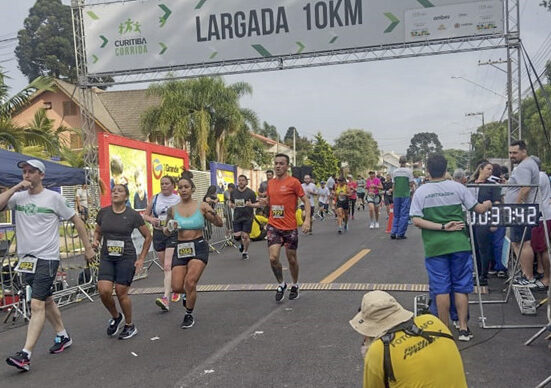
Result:
M422 229L425 267L429 288L436 295L438 318L449 324L450 293L454 294L459 317L459 340L470 341L467 327L469 297L473 291L473 260L471 243L465 229L463 205L468 210L485 213L492 201L478 203L463 185L446 180L447 161L443 155L432 154L427 159L430 181L413 194L410 216Z

